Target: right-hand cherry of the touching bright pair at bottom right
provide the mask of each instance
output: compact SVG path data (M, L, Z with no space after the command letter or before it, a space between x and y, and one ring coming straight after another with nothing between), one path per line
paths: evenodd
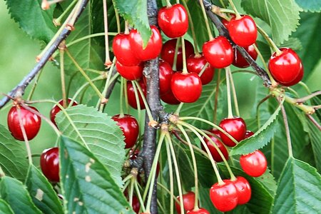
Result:
M242 176L236 177L233 180L236 190L238 191L238 205L248 203L251 199L252 190L250 183Z

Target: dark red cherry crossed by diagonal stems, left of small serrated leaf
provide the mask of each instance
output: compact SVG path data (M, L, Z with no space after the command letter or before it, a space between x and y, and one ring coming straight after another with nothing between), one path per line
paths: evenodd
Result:
M211 133L215 134L215 136L220 137L220 131L218 130L211 130ZM223 143L221 141L218 140L218 138L215 138L215 136L210 136L210 139L216 144L216 146L218 146L218 149L220 149L220 151L223 153L223 156L226 160L228 160L228 150L225 148L225 146L223 145ZM210 150L210 153L212 154L212 157L214 158L214 161L216 162L221 162L223 161L223 158L220 156L220 154L218 153L218 151L216 150L216 148L213 146L212 143L210 143L210 141L208 141L207 138L204 138L204 141L206 143L206 145L208 146L208 149ZM201 144L203 151L206 151L203 143Z

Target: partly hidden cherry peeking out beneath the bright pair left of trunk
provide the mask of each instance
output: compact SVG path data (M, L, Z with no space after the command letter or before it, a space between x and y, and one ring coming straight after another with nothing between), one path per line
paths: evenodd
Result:
M116 61L116 69L118 73L129 81L142 78L143 68L143 63L140 63L136 66L123 66L119 61Z

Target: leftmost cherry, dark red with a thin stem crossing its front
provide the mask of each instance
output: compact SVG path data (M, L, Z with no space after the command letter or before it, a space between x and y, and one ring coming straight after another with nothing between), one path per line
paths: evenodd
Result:
M24 130L26 131L26 137L30 141L39 132L41 118L31 111L26 110L26 108L23 106L12 106L7 118L8 128L11 132L11 135L14 136L14 138L16 138L18 141L24 141L24 136L20 126L17 108L20 108L22 124L24 126ZM38 110L32 106L29 106L29 108L32 108L34 111L38 112Z

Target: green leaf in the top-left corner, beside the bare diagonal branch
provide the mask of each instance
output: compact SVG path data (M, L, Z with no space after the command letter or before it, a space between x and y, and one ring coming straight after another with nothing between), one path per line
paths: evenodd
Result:
M41 0L6 0L11 18L33 39L48 43L56 32L53 24L54 5L41 9Z

